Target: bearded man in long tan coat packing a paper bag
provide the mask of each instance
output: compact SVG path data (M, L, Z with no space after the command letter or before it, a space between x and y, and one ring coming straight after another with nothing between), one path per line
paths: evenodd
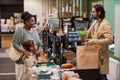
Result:
M99 45L98 65L100 69L100 80L107 80L109 73L108 46L113 42L111 26L105 18L105 10L102 5L96 4L92 7L92 16L95 19L86 34L86 46Z

